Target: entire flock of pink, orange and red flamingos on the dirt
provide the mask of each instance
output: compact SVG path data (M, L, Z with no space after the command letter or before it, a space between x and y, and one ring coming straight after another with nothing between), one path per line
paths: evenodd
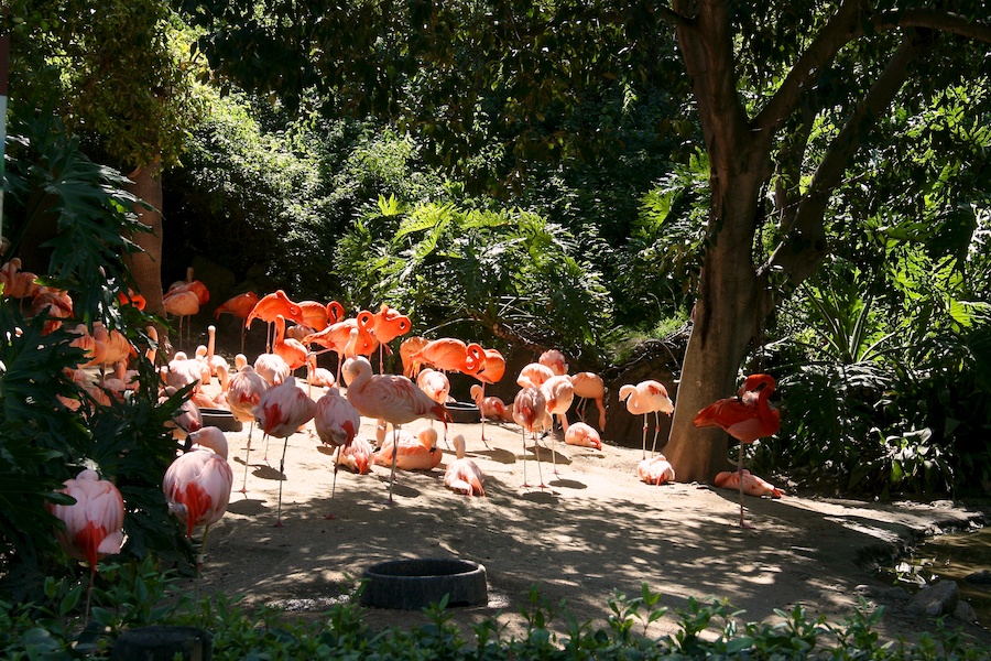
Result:
M12 259L0 268L2 295L20 300L30 314L47 315L50 329L58 327L63 319L72 319L72 300L65 292L50 290L37 283L37 278L23 271L19 260ZM187 271L185 280L172 284L164 292L165 310L178 319L178 337L182 343L184 322L196 314L209 301L206 286ZM121 294L121 304L143 306L144 300L137 292ZM523 487L529 488L526 474L526 436L531 436L536 453L538 484L544 484L540 462L540 434L545 436L560 425L566 445L600 451L600 432L606 429L605 384L592 372L568 375L568 364L557 350L548 350L526 365L518 375L520 391L511 404L498 397L487 395L486 387L499 382L505 372L505 359L492 348L456 338L427 339L413 336L400 346L402 375L384 373L384 356L392 355L390 346L412 329L410 318L399 311L381 305L378 312L359 311L353 317L345 316L345 308L337 302L327 304L304 301L293 302L279 290L259 296L254 292L238 294L215 310L215 317L231 314L242 319L241 353L235 358L233 369L215 351L215 327L208 328L208 346L197 347L192 358L177 351L161 367L161 400L175 397L184 388L189 389L168 425L177 442L185 442L185 451L163 475L162 488L168 509L185 528L192 539L197 527L203 528L200 552L205 548L210 525L225 514L230 501L233 475L228 459L228 445L224 432L205 427L198 409L226 409L242 424L249 424L248 447L244 455L244 475L240 492L248 492L248 452L254 426L259 426L268 441L270 436L283 440L283 453L279 472L285 475L285 456L290 437L305 434L313 421L315 436L323 445L333 448L334 483L341 465L358 475L368 475L373 465L388 466L389 502L393 502L393 485L396 470L431 472L440 466L443 452L437 447L438 434L433 427L423 427L415 434L402 429L415 420L437 421L444 425L445 440L450 415L446 403L450 401L449 375L466 375L478 383L470 388L471 398L481 414L480 440L486 442L484 422L513 421L521 427L523 438ZM243 354L244 330L254 319L269 326L265 351L253 364ZM76 336L73 345L84 353L79 368L67 378L83 384L94 404L107 403L110 398L122 400L138 387L128 362L137 357L137 347L115 329L100 323L91 326L78 324L70 328ZM149 350L145 358L155 361L157 335L153 327L146 332ZM187 335L187 340L188 340ZM317 356L324 351L337 354L337 372L317 366ZM378 353L378 372L372 368L372 357ZM95 382L86 368L97 368ZM297 372L305 368L305 376ZM107 378L107 370L111 377ZM217 379L220 394L210 397L204 386ZM318 397L314 398L316 388ZM698 427L717 426L740 443L736 472L723 472L715 478L720 488L734 488L740 492L739 524L745 525L743 495L780 498L782 492L773 485L751 475L742 466L744 444L772 435L780 427L780 413L769 403L775 381L769 375L752 375L740 387L736 397L721 399L699 411L695 418ZM674 404L666 388L655 380L623 386L619 392L631 414L643 415L642 460L636 474L644 483L661 485L675 479L674 468L664 455L656 453L656 424L660 413L672 414ZM586 422L585 405L591 400L598 408L598 430ZM568 421L573 403L579 420ZM79 401L63 399L69 409L78 410ZM651 456L646 453L647 414L655 415L654 443ZM85 414L85 411L84 411ZM377 438L380 447L358 435L361 418L377 421L378 427L391 424L391 437ZM589 421L590 422L590 421ZM486 443L486 447L488 444ZM486 495L484 474L467 456L462 434L454 437L455 457L447 462L444 484L455 492L467 496ZM554 474L557 475L556 452L552 445ZM265 453L268 462L268 453ZM275 525L282 525L282 481ZM53 505L50 511L62 524L57 539L66 553L88 563L91 575L99 559L120 551L123 542L124 503L116 487L99 479L95 470L83 470L65 481L64 492L75 499L74 505ZM333 518L331 513L327 518ZM200 553L200 557L203 557ZM197 565L197 577L202 570ZM198 578L197 578L198 585Z

